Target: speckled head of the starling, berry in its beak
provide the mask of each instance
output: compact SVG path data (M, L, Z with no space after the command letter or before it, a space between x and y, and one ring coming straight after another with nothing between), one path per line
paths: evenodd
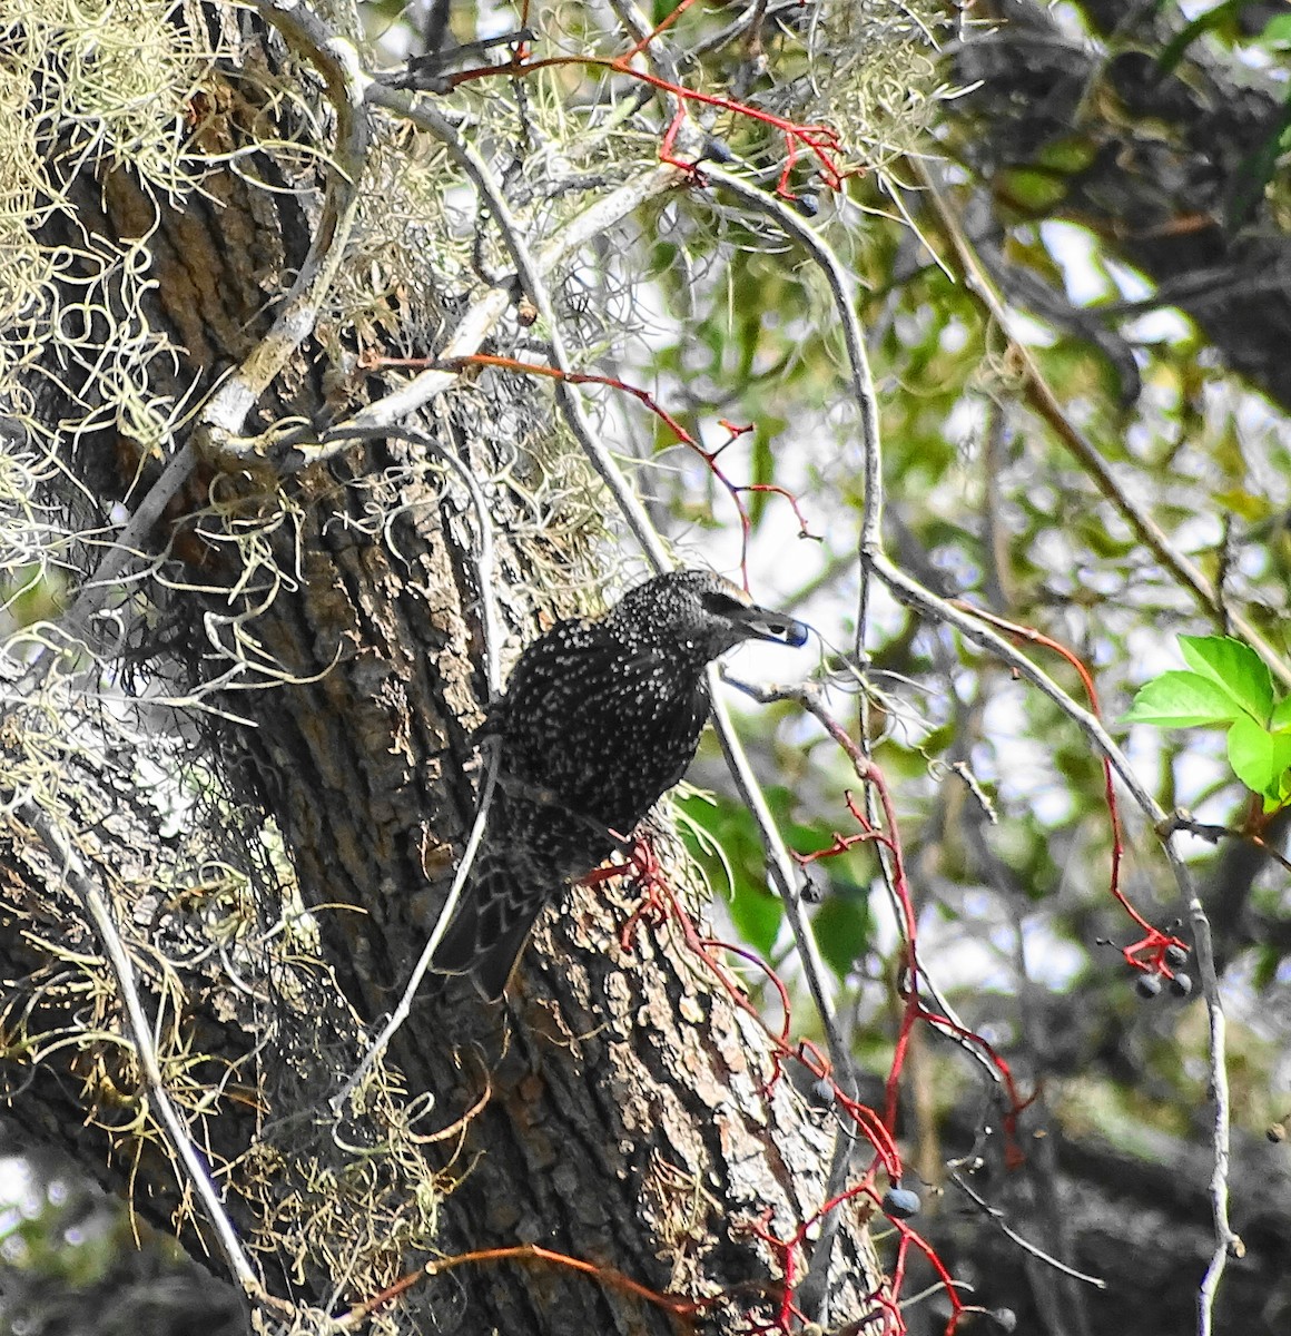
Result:
M745 640L796 648L806 628L793 617L761 608L736 584L710 570L672 570L630 589L611 619L649 625L665 643L690 643L705 661Z

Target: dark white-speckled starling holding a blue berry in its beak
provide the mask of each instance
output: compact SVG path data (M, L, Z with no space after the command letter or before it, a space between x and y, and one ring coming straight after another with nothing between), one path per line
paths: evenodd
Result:
M709 711L704 669L744 640L801 645L806 631L721 576L680 570L525 649L481 728L497 787L438 973L502 995L543 906L626 847L685 774Z

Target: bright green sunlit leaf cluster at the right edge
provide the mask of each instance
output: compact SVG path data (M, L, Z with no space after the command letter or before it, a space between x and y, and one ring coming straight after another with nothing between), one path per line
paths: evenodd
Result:
M1231 636L1180 636L1190 671L1145 683L1125 721L1157 728L1223 724L1232 772L1264 799L1264 811L1291 800L1291 696L1274 697L1272 675L1250 645Z

